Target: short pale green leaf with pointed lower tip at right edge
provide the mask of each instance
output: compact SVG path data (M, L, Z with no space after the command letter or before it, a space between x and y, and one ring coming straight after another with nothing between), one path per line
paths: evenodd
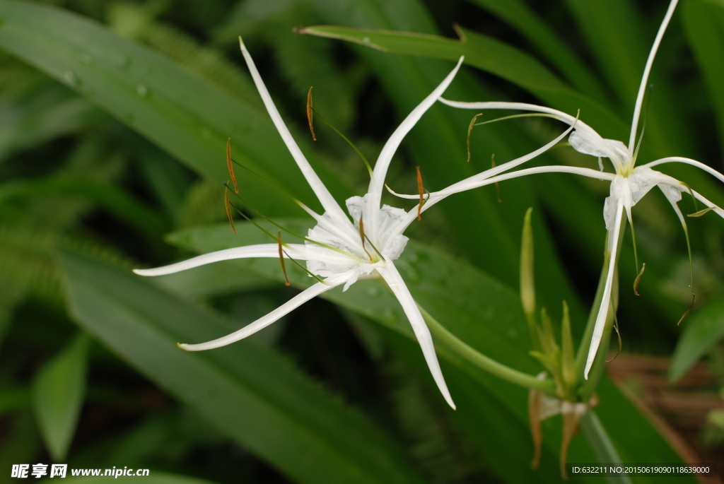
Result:
M678 381L704 353L724 338L724 298L713 300L683 320L683 333L674 349L669 381Z

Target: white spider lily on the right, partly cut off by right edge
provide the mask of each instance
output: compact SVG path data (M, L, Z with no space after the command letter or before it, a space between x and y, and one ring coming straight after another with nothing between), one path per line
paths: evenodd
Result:
M568 141L571 143L573 149L592 156L599 158L599 166L603 170L603 166L600 163L601 158L609 158L615 174L605 173L603 171L595 171L590 169L573 168L568 166L542 166L535 169L527 169L515 171L511 174L506 174L501 177L491 178L490 174L492 170L484 171L476 177L463 180L458 184L452 185L441 192L433 192L430 197L435 198L443 195L450 195L451 192L469 190L473 187L481 187L484 184L500 182L503 179L509 179L513 177L520 177L526 174L542 173L542 172L565 172L565 173L576 173L586 177L593 177L598 179L607 179L611 181L610 185L610 196L606 198L604 205L604 219L606 223L606 229L609 231L608 238L608 250L610 252L607 279L605 282L605 290L602 298L601 306L597 314L596 323L594 326L594 333L589 347L589 354L586 359L586 368L584 376L588 379L589 370L594 362L594 358L599 347L603 330L605 327L606 317L610 306L611 300L611 288L613 286L613 269L616 263L616 255L618 250L618 235L620 233L620 223L623 218L623 211L626 211L629 224L631 221L631 207L641 200L649 190L653 187L659 187L664 193L667 200L673 207L676 215L681 221L682 226L686 230L686 221L678 208L678 201L681 200L681 192L690 192L696 200L701 201L707 208L712 209L720 216L724 218L724 211L718 208L712 202L704 198L701 194L694 190L689 190L686 184L678 181L668 175L662 174L659 171L652 170L653 166L660 164L678 162L684 164L690 164L698 167L707 173L712 174L721 181L724 182L724 175L718 171L710 168L709 166L702 164L699 161L691 160L689 158L681 157L669 157L661 158L656 161L652 161L649 164L643 166L635 166L637 149L636 143L636 129L639 125L639 117L641 116L641 106L644 101L644 93L649 78L649 72L651 71L654 57L656 56L657 49L661 43L661 39L664 35L666 27L673 15L674 9L678 0L672 0L669 4L668 10L665 14L664 20L659 27L659 31L654 40L654 45L649 52L649 58L647 59L646 67L644 68L644 75L641 77L641 85L639 86L639 93L636 97L636 105L633 110L633 120L631 122L631 135L628 140L628 146L621 143L618 140L607 140L601 137L595 130L589 127L584 122L578 121L576 117L570 114L565 114L562 111L551 109L546 106L537 106L529 103L506 103L506 102L481 102L481 103L465 103L458 101L448 101L447 99L440 98L442 103L448 106L453 106L461 109L514 109L520 111L533 111L536 113L547 114L548 116L565 122L574 131L568 137ZM502 168L504 165L499 166ZM497 171L494 174L498 174L501 171ZM457 185L457 186L456 186ZM631 225L633 228L633 225Z

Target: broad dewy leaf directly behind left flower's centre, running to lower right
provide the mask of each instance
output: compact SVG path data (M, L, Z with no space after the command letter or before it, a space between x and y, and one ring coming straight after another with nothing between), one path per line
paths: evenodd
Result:
M278 222L298 233L308 226L305 221ZM271 229L270 225L268 229ZM248 223L237 224L237 231L239 234L233 234L228 226L224 225L206 226L176 232L168 239L175 245L195 252L264 243L268 239ZM237 271L253 271L280 283L284 280L277 260L230 260L222 264L234 267ZM455 336L479 352L512 368L530 374L540 371L539 365L528 354L530 343L527 323L518 294L513 290L469 264L414 240L408 242L405 252L395 261L395 265L416 300ZM309 286L313 281L291 264L287 264L287 271L292 284L300 288ZM407 318L395 297L384 289L382 284L377 281L358 281L350 286L347 292L335 289L325 293L323 297L390 330L385 333L388 339L400 347L411 361L416 362L421 375L432 382L418 344L414 342ZM544 481L557 476L560 428L549 429L544 438L548 459L552 460L553 464L539 470L539 477L535 477L535 472L527 470L529 457L519 455L520 449L525 448L524 443L529 442L530 435L526 389L482 373L479 368L460 359L442 344L438 344L437 349L442 360L443 374L458 406L452 417L458 421L460 428L478 443L496 472L510 482L538 478ZM623 462L680 460L646 418L607 378L603 378L598 394L602 402L597 409L598 415L624 459ZM494 410L481 411L481 408ZM490 428L497 428L499 431L491 432ZM631 428L636 428L636 432L631 432ZM500 437L490 439L491 434ZM584 441L577 442L571 448L569 460L594 462L594 455ZM532 443L530 446L532 453ZM651 481L644 478L636 482Z

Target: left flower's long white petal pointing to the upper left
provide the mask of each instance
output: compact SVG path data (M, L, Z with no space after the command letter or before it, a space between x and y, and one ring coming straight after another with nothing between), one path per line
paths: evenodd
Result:
M340 205L336 200L334 200L332 194L329 193L327 187L324 186L324 183L321 182L321 179L319 179L316 172L307 161L307 158L305 158L302 153L302 150L299 149L299 146L292 137L292 134L287 129L287 125L284 123L279 111L277 111L277 106L274 106L274 101L271 100L271 95L269 95L269 91L266 90L266 85L264 85L264 81L261 80L261 75L259 75L258 70L256 70L256 65L254 64L253 59L251 59L251 55L249 54L249 51L246 50L241 38L239 38L239 45L241 47L241 53L244 56L244 60L246 61L246 65L251 72L254 84L256 84L256 89L259 91L262 101L264 101L266 111L269 112L271 121L274 122L274 126L277 127L279 135L282 137L282 140L284 140L285 145L287 145L289 152L292 153L294 161L297 162L297 166L299 166L299 169L302 171L302 174L306 178L309 186L312 190L314 190L315 195L319 198L319 202L324 207L325 211L332 214L334 218L345 220L347 216L345 216L342 208L340 208Z

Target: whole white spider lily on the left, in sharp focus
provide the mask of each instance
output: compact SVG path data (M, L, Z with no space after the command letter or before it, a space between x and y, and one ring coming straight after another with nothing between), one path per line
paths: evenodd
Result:
M274 122L274 126L277 127L279 135L282 136L282 140L287 145L297 166L299 166L319 202L324 207L324 213L319 215L302 205L315 218L317 225L309 230L308 237L303 245L288 244L285 245L287 249L284 251L287 258L306 260L307 270L318 278L318 282L292 297L291 300L277 307L271 313L232 334L206 343L180 344L179 346L189 351L223 347L269 326L282 316L290 313L295 307L323 292L329 291L329 289L344 285L343 290L346 290L358 279L381 278L384 279L387 286L397 297L400 305L402 305L435 383L437 383L442 396L445 397L450 407L455 409L455 404L452 402L437 361L430 331L415 300L413 300L412 294L405 285L405 281L395 268L394 260L400 257L405 249L405 244L408 242L408 238L403 236L402 233L414 218L409 218L408 212L401 208L381 205L380 198L382 196L382 187L384 187L384 177L387 174L387 167L390 166L392 155L402 142L403 137L407 135L425 111L437 101L437 98L450 85L458 69L460 69L463 58L460 57L455 69L452 69L452 72L445 77L445 80L408 114L402 124L392 133L390 139L387 140L371 174L369 191L363 197L352 197L347 200L346 205L352 218L350 221L350 218L342 211L337 201L332 198L329 190L321 182L321 179L319 179L297 143L295 143L289 130L287 130L282 116L279 115L279 111L274 106L274 101L271 100L269 91L266 90L264 81L261 80L261 76L241 39L240 46L256 88L264 101L264 106L266 106L271 120ZM416 214L416 209L411 212ZM170 266L136 269L134 272L141 276L161 276L219 260L255 257L278 258L279 252L279 245L276 243L236 247L200 255Z

